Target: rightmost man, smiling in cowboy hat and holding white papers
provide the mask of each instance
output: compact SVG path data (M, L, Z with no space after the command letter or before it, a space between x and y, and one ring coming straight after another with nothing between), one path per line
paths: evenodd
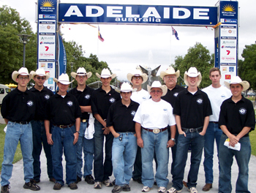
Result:
M230 83L225 81L224 84L230 88L233 95L222 103L219 113L219 127L223 132L219 142L219 192L232 191L233 156L236 157L239 170L236 192L249 192L248 164L251 156L249 132L255 129L255 110L252 102L241 94L249 88L249 83L235 76Z

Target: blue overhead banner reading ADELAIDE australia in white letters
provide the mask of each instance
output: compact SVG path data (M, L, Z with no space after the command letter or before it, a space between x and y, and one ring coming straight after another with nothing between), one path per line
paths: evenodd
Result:
M217 7L59 4L59 22L214 26Z

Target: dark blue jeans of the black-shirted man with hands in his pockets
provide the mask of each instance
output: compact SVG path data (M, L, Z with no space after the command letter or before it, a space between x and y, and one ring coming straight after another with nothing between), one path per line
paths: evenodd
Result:
M187 162L187 154L191 143L191 164L189 175L187 178L187 186L189 188L197 186L197 175L200 167L201 157L203 153L204 136L197 132L187 132L187 137L178 135L178 151L176 152L176 161L173 171L173 187L177 190L183 188L184 170Z

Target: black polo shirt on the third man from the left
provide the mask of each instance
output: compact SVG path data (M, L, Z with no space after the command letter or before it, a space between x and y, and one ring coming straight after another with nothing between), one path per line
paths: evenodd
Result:
M46 112L45 119L56 125L75 124L75 119L82 116L78 99L69 93L64 98L57 93L50 97Z

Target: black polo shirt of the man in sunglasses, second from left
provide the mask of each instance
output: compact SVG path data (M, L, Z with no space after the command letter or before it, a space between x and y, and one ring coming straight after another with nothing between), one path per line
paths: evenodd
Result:
M37 96L37 111L34 120L43 121L46 113L46 104L50 96L54 95L53 91L50 91L50 89L45 86L42 88L42 91L37 90L34 86L30 88L29 91L32 91Z

